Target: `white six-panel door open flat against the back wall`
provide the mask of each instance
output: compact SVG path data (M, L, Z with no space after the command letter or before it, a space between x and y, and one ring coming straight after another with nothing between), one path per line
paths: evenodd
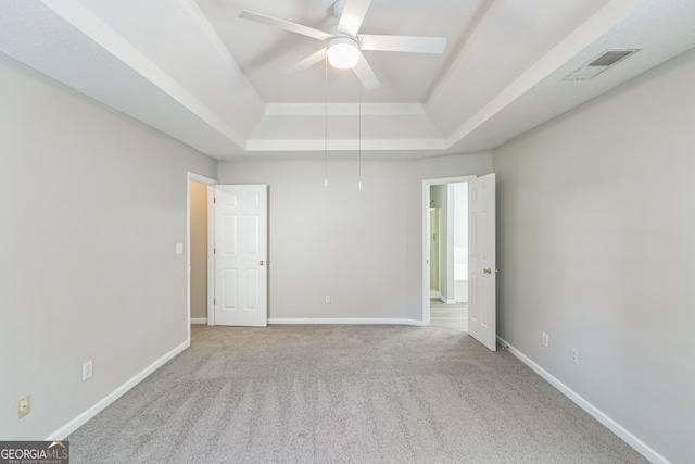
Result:
M267 186L215 186L214 325L268 325Z

